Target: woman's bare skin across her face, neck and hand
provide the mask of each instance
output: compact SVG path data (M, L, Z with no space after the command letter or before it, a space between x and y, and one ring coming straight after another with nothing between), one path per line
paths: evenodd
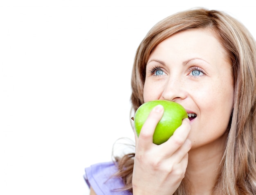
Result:
M173 194L184 177L192 194L219 194L213 186L233 108L233 80L227 53L209 29L182 31L157 45L146 66L144 101L175 101L197 116L154 145L164 110L157 106L150 113L135 135L134 195Z

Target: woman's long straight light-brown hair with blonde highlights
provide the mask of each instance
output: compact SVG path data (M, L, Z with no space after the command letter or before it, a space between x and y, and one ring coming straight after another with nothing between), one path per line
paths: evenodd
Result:
M154 48L167 37L192 28L211 29L227 51L234 76L234 108L216 188L223 195L256 194L256 44L238 20L224 12L191 9L171 15L148 32L137 49L132 69L132 112L144 103L146 63ZM132 192L134 153L116 158L117 175ZM182 181L175 195L189 194Z

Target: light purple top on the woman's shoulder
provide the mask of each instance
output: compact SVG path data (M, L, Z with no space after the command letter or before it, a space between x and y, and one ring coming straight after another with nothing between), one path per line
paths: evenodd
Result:
M111 177L117 172L113 162L102 162L85 168L85 182L97 195L132 195L129 191L120 191L124 183L119 177Z

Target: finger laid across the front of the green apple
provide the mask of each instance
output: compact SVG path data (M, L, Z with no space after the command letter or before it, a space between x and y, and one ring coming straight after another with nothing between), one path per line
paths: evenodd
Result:
M141 128L138 139L138 147L141 147L141 149L148 149L148 147L152 145L155 127L161 120L163 114L164 107L162 105L157 105L153 108L153 110L148 115L146 122Z

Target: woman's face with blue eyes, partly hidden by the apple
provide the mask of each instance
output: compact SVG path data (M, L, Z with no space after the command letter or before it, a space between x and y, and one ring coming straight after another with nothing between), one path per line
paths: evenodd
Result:
M192 148L224 134L233 107L234 82L227 53L211 30L176 33L153 50L146 66L144 101L156 99L174 101L186 109Z

